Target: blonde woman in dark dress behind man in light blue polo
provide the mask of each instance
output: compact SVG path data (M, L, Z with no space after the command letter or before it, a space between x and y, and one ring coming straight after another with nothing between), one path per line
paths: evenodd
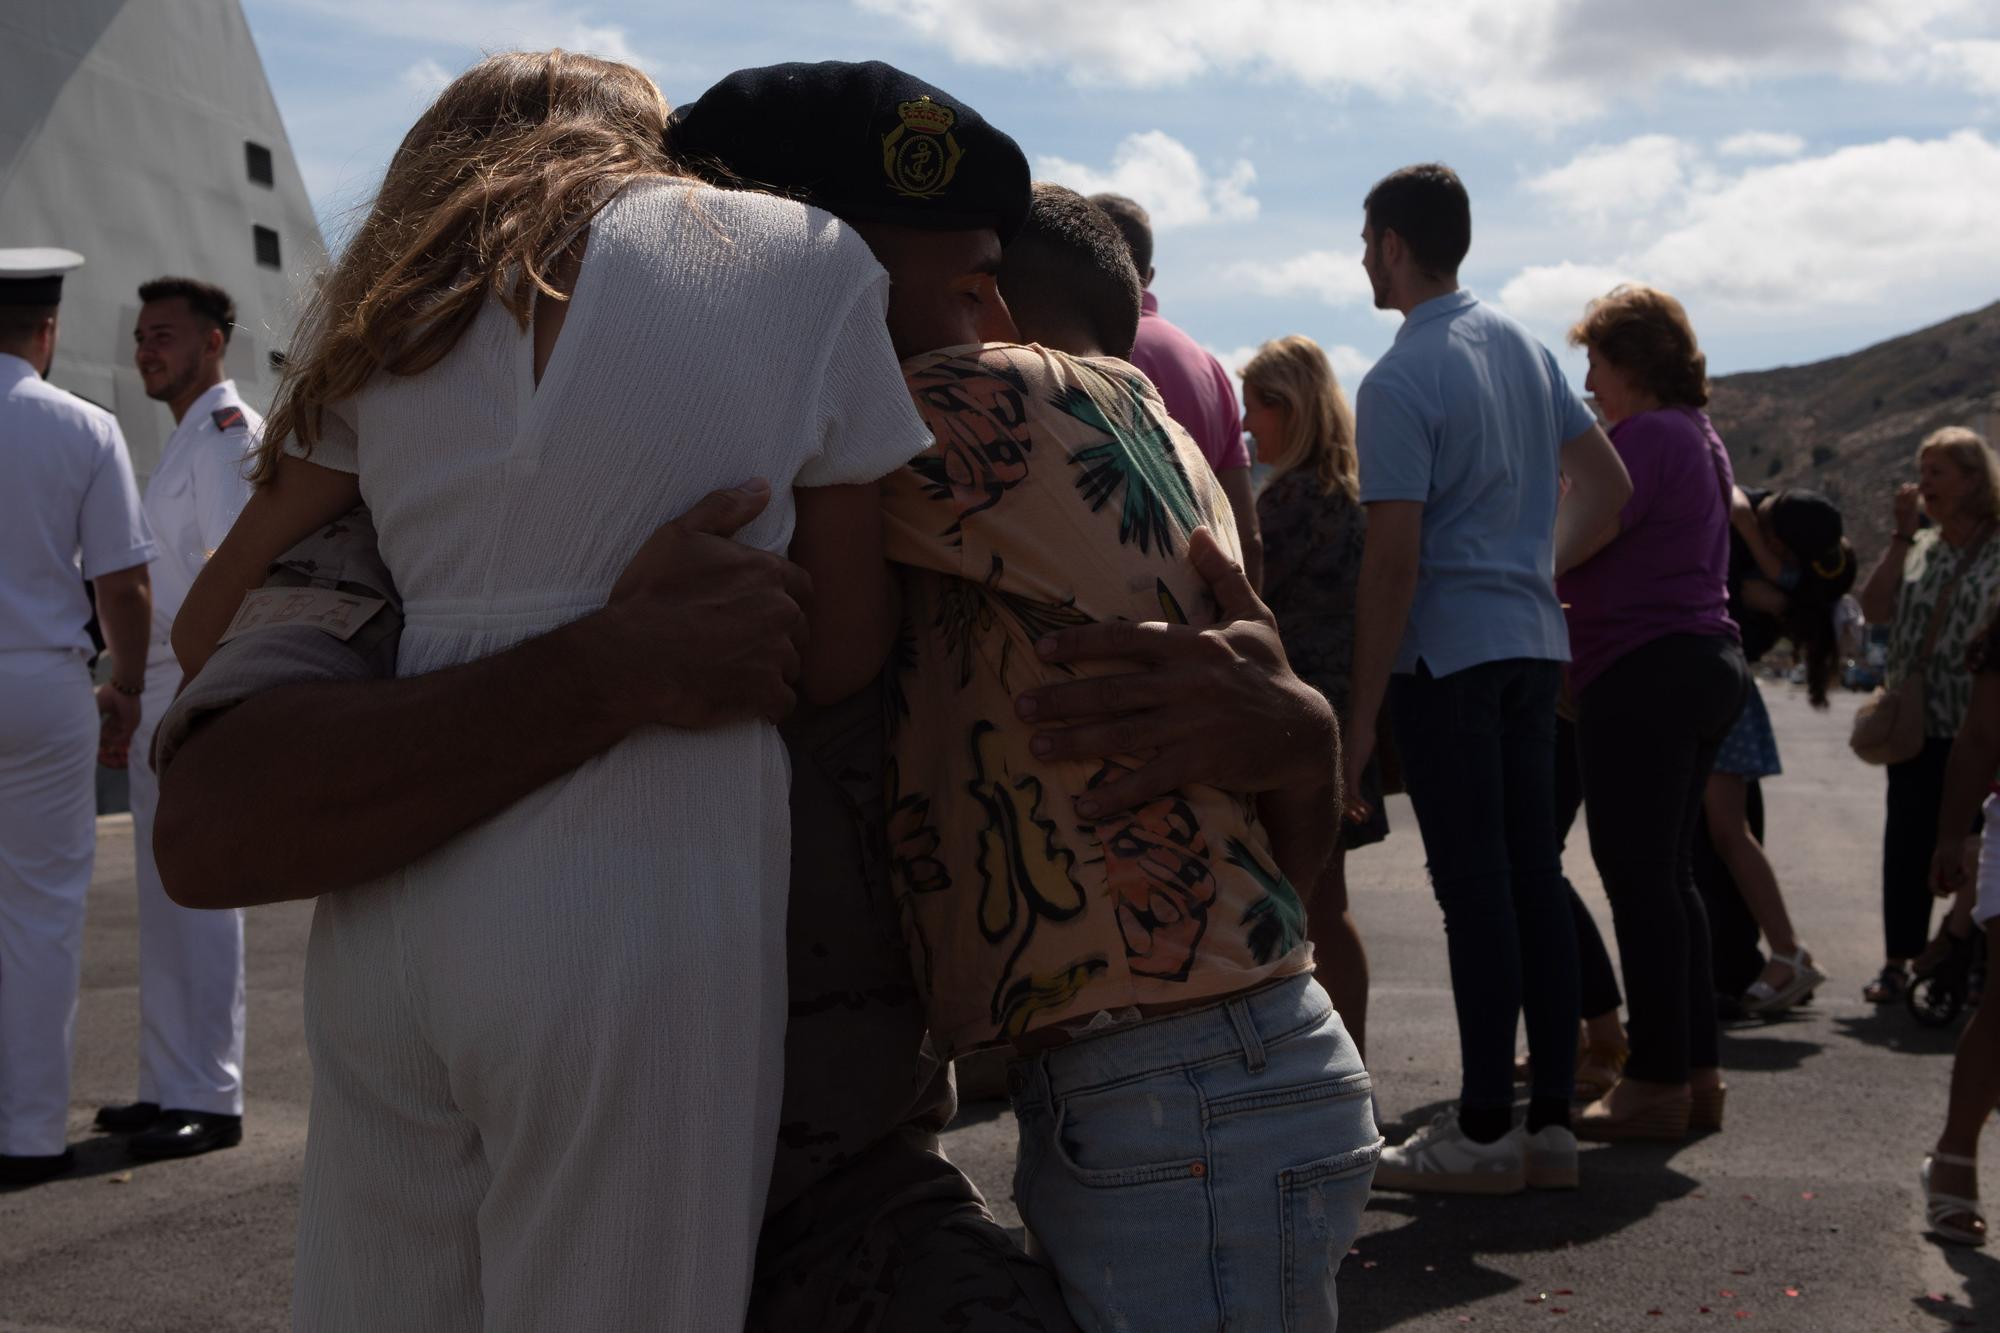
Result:
M1302 334L1274 338L1242 368L1244 430L1272 476L1256 500L1264 532L1264 600L1292 671L1326 695L1342 725L1354 671L1354 592L1362 572L1368 510L1360 504L1354 408L1332 362ZM1362 791L1348 793L1356 817L1312 891L1306 935L1320 959L1320 983L1368 1053L1368 953L1348 909L1348 851L1388 837L1382 779L1374 763ZM1366 807L1366 809L1362 809ZM1338 813L1328 813L1342 819Z

